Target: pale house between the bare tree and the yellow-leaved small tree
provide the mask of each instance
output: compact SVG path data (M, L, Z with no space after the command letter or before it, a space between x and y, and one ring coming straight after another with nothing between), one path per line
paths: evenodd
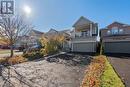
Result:
M31 47L34 45L38 45L39 39L43 34L44 34L43 32L32 29L28 35L22 36L22 37L19 36L18 41L16 42L15 46L16 47L21 47L21 46Z

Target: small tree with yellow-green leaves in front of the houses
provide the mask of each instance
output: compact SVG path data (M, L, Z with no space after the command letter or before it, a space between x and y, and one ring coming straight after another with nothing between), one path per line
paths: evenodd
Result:
M65 41L65 37L63 35L54 35L53 37L51 35L48 37L42 36L40 41L44 47L42 51L45 55L48 55L62 49L62 44Z

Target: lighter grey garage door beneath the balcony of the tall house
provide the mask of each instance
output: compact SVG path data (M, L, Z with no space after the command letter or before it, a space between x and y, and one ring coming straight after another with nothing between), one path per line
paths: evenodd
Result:
M96 43L73 43L73 52L96 52Z

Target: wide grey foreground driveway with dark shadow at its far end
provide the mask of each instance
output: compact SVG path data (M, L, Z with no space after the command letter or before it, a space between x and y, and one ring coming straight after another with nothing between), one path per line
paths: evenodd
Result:
M88 55L62 54L14 65L18 74L11 70L11 82L16 87L80 87L90 60ZM3 83L0 79L0 87Z

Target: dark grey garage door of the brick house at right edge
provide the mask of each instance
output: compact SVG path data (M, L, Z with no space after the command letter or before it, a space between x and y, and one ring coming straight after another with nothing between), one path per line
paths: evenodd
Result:
M105 53L130 53L130 42L107 42L104 44Z

